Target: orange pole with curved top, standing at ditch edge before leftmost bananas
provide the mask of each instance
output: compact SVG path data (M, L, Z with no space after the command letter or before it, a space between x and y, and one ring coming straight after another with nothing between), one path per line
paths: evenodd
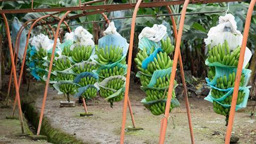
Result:
M43 103L42 103L42 108L41 108L41 114L40 114L40 118L39 118L39 124L38 124L38 128L37 128L37 135L40 133L41 130L41 125L42 125L42 121L43 121L43 115L44 115L44 108L45 108L45 102L46 102L46 97L47 97L47 92L48 92L48 87L49 87L49 81L50 81L50 77L51 77L51 71L52 71L52 63L53 63L53 59L54 59L54 53L55 53L55 48L57 45L57 39L58 39L58 35L59 35L59 31L60 31L60 25L63 22L63 20L65 19L65 17L70 13L71 11L67 11L62 18L60 19L60 22L58 24L55 36L54 36L54 43L53 43L53 48L52 48L52 56L51 56L51 61L50 61L50 66L49 66L49 73L47 75L47 81L45 84L45 90L44 90L44 98L43 98Z

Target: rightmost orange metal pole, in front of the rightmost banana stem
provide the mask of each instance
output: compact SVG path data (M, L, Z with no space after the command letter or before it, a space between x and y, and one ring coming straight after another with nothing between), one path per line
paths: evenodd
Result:
M230 114L229 114L229 118L228 118L228 126L227 126L227 131L226 131L225 144L229 144L229 142L230 142L232 127L233 127L233 122L234 122L234 117L235 117L237 94L239 91L239 83L241 80L241 74L242 74L243 63L244 63L245 48L246 48L247 38L248 38L248 34L249 34L254 5L255 5L255 0L252 0L249 5L249 9L248 9L247 15L246 15L246 21L245 21L245 26L244 26L244 36L243 36L243 42L242 42L239 61L238 61L238 67L237 67L237 71L236 71L236 80L235 80L234 92L232 95Z

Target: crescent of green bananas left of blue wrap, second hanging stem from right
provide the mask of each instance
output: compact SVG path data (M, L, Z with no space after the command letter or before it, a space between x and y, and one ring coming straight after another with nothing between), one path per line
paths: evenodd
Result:
M150 50L150 54L154 52L154 47L151 47ZM134 61L137 63L137 68L145 74L150 74L149 71L147 69L143 69L142 66L142 61L145 60L150 54L147 54L147 49L144 47L144 49L141 51L139 50L139 52L136 55L136 58L134 59Z

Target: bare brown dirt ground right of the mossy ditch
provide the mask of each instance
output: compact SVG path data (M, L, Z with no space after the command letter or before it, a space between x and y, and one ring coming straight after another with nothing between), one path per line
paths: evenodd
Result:
M36 107L41 108L44 86L37 91L39 97L36 100ZM145 109L140 100L145 94L138 85L130 88L130 98L134 117L137 126L144 130L136 132L126 132L125 143L157 143L159 138L159 127L162 116L154 116ZM109 107L109 103L103 99L88 106L92 117L79 117L79 112L83 112L82 105L77 104L75 108L60 108L61 95L57 95L52 88L47 97L45 116L47 116L54 127L76 135L87 143L118 143L122 121L123 102L114 103L114 108ZM190 133L188 128L185 101L179 100L181 107L175 108L166 132L166 143L190 143ZM226 126L225 117L213 112L212 104L203 99L189 99L193 129L196 143L223 143ZM249 102L249 105L251 103ZM256 143L256 119L250 118L248 110L238 112L235 115L233 131L240 137L239 143ZM130 114L127 113L126 127L132 126Z

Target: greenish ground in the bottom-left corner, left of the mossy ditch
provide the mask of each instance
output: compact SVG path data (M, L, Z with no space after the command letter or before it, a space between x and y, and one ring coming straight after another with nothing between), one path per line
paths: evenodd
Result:
M46 141L33 141L27 137L19 136L21 133L20 121L18 119L6 119L10 116L12 108L3 108L3 103L0 102L0 143L19 143L19 144L47 144ZM16 110L18 111L18 109ZM16 114L18 116L18 113ZM26 121L26 119L25 119ZM28 125L25 122L25 133L32 134L29 131ZM50 144L50 143L49 143Z

